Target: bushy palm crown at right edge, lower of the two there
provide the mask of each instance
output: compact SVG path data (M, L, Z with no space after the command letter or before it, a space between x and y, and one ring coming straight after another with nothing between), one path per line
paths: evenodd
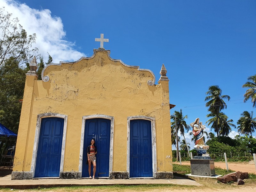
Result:
M253 116L253 111L250 112L244 111L241 114L241 117L238 119L237 126L238 132L242 134L251 134L256 130L256 117Z

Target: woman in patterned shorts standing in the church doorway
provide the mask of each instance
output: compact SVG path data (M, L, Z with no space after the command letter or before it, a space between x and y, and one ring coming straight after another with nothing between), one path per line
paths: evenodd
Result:
M91 140L91 145L87 147L87 161L88 161L88 171L89 171L89 179L95 179L95 172L96 172L96 156L97 154L97 147L95 146L95 140ZM93 176L91 177L91 165L93 164Z

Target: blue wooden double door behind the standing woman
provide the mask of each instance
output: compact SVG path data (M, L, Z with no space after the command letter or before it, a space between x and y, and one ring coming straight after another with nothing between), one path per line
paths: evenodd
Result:
M109 119L103 118L85 120L82 177L89 177L86 149L92 138L95 139L97 147L95 177L109 176L110 122ZM92 175L93 165L91 165Z

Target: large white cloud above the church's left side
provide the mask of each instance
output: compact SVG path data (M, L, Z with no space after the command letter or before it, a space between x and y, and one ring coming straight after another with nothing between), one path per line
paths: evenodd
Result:
M60 17L52 16L49 9L32 9L26 4L20 4L14 0L0 0L1 7L12 13L12 17L18 17L20 25L27 34L36 33L35 46L39 53L48 60L48 53L54 63L60 61L76 61L85 56L84 53L74 49L74 42L64 40L66 32Z

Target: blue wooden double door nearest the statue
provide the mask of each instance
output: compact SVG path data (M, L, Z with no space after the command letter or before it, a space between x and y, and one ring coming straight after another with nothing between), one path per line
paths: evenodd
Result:
M151 122L130 121L130 177L153 177Z

